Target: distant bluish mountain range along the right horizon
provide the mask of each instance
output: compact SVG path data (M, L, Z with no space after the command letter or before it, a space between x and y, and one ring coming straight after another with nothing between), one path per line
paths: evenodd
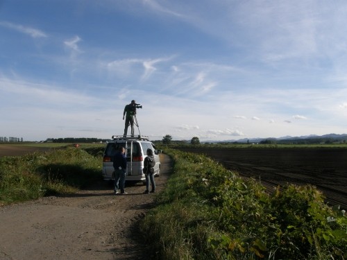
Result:
M268 137L268 138L244 138L238 140L228 140L221 142L237 142L237 143L260 143L260 142L276 142L277 144L290 144L290 143L327 143L327 142L338 142L338 141L346 141L347 142L347 134L337 135L337 134L329 134L329 135L305 135L301 137Z

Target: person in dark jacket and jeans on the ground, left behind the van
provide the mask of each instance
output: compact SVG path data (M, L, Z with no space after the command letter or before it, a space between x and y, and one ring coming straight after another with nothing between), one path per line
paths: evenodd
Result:
M124 191L124 185L126 182L126 149L124 147L120 147L118 153L113 157L113 168L115 168L115 183L114 183L114 191L115 194L119 194L119 189L121 190L121 194L126 194Z

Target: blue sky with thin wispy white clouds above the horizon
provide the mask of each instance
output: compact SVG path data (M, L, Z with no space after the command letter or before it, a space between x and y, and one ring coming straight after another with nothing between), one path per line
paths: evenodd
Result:
M0 136L346 133L347 2L0 0ZM135 134L138 129L135 128Z

